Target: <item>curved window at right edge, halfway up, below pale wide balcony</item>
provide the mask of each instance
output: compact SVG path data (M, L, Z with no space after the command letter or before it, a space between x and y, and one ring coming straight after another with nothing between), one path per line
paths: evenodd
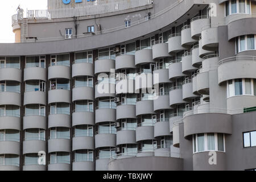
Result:
M227 82L228 97L249 95L256 96L256 79L239 78Z

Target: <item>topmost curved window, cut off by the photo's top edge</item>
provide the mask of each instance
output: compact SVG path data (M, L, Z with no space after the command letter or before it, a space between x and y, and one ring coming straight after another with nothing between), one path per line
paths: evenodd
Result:
M225 15L230 14L250 14L251 1L250 0L229 0L225 2Z

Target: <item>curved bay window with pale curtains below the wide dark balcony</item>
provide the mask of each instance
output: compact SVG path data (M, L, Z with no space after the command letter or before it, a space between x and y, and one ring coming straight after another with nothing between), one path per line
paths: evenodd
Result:
M225 151L224 134L203 133L193 135L193 152Z

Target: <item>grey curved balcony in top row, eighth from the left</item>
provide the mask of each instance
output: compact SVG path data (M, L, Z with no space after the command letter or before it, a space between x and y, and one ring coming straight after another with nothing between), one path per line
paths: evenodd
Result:
M168 41L167 43L162 43L162 41L156 41L155 45L152 46L152 57L153 59L163 59L164 57L171 57L168 51Z

